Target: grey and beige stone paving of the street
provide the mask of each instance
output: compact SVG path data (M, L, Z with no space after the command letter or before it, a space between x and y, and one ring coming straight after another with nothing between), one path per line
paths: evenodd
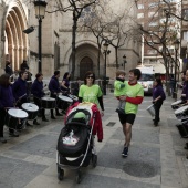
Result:
M64 180L56 178L56 143L63 117L27 127L19 138L8 136L0 144L0 188L187 188L188 160L171 109L171 97L163 107L158 127L146 111L152 97L139 106L127 158L122 158L122 126L113 94L104 96L104 140L96 144L96 168L82 168L82 182L76 184L75 170L65 169ZM48 118L50 114L48 112Z

